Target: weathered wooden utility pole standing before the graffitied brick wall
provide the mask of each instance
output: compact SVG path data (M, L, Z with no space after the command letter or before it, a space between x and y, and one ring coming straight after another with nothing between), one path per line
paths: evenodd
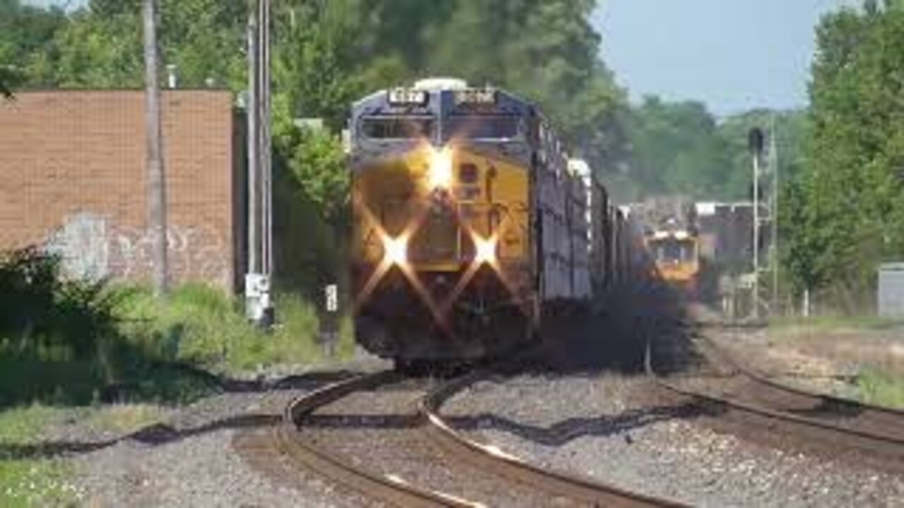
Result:
M166 178L163 128L160 122L160 85L157 81L156 11L156 0L142 1L145 32L147 221L154 242L154 290L157 296L165 296L169 289L169 266L166 259Z

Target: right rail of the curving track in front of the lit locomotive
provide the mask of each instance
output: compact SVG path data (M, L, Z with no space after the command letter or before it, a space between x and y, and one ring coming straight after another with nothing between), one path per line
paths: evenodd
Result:
M472 372L440 385L420 400L419 411L421 418L427 423L424 429L428 438L451 456L491 471L494 475L502 475L511 480L531 485L543 492L596 506L684 506L684 504L671 500L654 498L612 485L601 484L590 478L535 466L497 447L481 444L466 437L443 419L439 410L443 403L458 391L488 376L488 372Z

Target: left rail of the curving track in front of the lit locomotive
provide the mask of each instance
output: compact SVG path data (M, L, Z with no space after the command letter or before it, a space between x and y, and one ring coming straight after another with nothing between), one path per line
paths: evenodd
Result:
M391 371L364 374L349 381L333 383L292 400L285 410L282 424L275 429L280 449L301 466L338 484L344 484L367 497L396 506L455 508L477 506L476 503L454 495L421 488L392 475L375 474L354 466L346 458L334 455L306 438L304 419L315 409L341 400L356 391L372 390L398 379Z

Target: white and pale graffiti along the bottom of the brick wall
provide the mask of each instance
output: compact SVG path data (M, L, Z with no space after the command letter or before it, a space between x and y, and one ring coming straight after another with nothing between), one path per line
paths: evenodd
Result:
M231 246L212 228L170 225L166 246L175 282L203 280L231 287ZM152 230L120 226L90 212L67 217L46 249L60 256L72 277L148 278L154 266Z

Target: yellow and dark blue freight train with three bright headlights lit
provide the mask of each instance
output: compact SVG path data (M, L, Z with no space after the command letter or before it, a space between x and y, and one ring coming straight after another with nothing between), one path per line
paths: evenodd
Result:
M624 220L530 101L420 80L357 101L349 131L353 316L368 351L499 356L625 277Z

